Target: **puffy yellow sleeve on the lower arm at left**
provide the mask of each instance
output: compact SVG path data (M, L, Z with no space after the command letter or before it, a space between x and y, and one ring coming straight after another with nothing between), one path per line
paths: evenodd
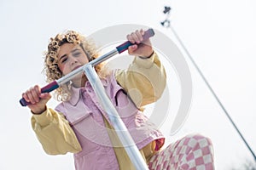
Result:
M72 127L63 116L50 108L40 115L32 116L32 128L44 151L49 155L79 152L81 146Z

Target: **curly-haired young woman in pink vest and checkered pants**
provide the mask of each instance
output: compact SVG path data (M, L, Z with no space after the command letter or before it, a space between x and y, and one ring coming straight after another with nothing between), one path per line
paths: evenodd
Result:
M160 98L166 86L166 72L144 31L127 39L135 43L128 53L135 55L126 70L108 71L96 66L102 84L131 133L149 169L214 169L212 143L201 135L189 135L163 149L165 138L143 115L142 107ZM45 56L48 81L74 71L98 54L92 42L76 31L51 38ZM51 109L49 93L36 85L23 98L31 105L32 127L50 155L74 153L75 167L85 169L135 169L124 146L114 133L108 116L84 73L56 90L61 103Z

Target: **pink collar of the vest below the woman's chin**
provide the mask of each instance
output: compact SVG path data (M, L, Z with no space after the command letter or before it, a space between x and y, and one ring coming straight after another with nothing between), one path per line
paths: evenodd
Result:
M103 87L107 87L107 80L106 79L101 79L101 82L102 82L102 85ZM79 99L82 97L82 92L85 90L85 89L92 89L91 85L90 85L90 82L87 81L85 82L85 86L82 87L82 88L74 88L73 86L71 87L71 98L68 100L68 102L75 106L78 104L79 102Z

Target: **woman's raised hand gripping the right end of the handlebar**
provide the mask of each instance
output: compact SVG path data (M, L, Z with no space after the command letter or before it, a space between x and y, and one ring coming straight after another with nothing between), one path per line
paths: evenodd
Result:
M131 32L131 34L127 35L128 41L135 43L128 48L128 54L137 55L143 58L148 58L153 54L150 40L143 40L144 33L145 31L141 29L140 31Z

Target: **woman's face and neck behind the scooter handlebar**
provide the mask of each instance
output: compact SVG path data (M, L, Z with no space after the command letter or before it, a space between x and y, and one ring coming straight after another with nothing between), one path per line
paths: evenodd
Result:
M83 49L79 45L73 43L64 43L63 45L61 45L57 57L58 66L63 75L67 75L68 73L78 69L80 66L83 66L89 62L86 54L84 54ZM80 73L77 77L74 77L74 85L83 85L84 77L85 76L83 72ZM83 83L81 83L81 81Z

